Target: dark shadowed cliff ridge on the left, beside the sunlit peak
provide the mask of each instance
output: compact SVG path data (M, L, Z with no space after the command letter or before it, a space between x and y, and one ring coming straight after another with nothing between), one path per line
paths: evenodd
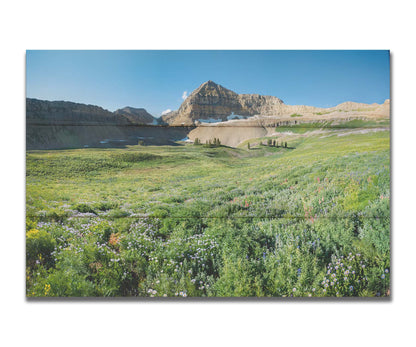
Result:
M169 127L143 108L110 112L99 106L26 99L26 149L176 144L188 127Z

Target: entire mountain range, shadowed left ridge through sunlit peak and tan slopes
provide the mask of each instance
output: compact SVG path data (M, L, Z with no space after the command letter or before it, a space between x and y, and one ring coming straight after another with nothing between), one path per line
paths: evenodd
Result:
M340 125L352 120L378 124L389 116L390 100L381 105L345 102L331 108L291 106L274 96L237 94L208 81L195 89L177 111L161 118L144 108L110 112L94 105L27 98L26 148L177 145L184 138L203 142L218 138L221 144L237 146L251 138L268 136L276 127L314 128L313 124Z

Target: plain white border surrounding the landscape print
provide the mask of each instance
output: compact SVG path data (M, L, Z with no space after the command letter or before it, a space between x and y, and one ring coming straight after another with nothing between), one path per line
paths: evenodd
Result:
M400 1L395 5L357 0L346 3L39 0L3 4L0 21L3 44L0 339L3 344L394 346L414 341L413 14L410 2ZM392 301L28 303L22 273L25 50L47 48L391 49Z

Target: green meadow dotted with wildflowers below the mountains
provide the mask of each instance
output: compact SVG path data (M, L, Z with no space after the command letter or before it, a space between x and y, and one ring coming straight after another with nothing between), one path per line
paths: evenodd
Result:
M29 151L27 296L386 296L390 132Z

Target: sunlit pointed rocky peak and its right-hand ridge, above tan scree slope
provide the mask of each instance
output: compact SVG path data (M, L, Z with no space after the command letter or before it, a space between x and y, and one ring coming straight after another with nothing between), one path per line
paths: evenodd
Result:
M207 81L195 89L177 111L162 116L162 120L169 125L178 126L199 125L201 123L217 124L253 116L257 116L256 122L262 117L269 118L268 121L270 121L270 118L279 120L297 114L318 118L317 116L334 112L364 111L374 113L379 111L382 115L388 116L389 105L387 106L355 102L345 102L332 108L286 105L275 96L237 94L213 81ZM252 122L253 120L248 119L246 122ZM241 120L241 123L245 122Z

